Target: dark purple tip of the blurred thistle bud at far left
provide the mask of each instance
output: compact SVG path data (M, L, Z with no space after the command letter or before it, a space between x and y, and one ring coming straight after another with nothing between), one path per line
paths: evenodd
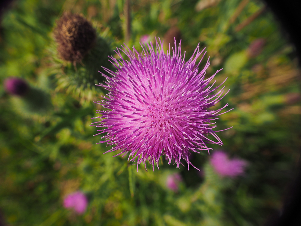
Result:
M25 80L16 77L7 78L4 81L4 87L8 93L17 96L24 96L29 89Z

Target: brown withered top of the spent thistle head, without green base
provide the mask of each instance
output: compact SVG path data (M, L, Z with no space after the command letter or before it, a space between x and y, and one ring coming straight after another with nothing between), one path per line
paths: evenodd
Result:
M64 13L58 20L54 36L59 55L71 62L81 62L96 39L95 29L88 20L71 13Z

